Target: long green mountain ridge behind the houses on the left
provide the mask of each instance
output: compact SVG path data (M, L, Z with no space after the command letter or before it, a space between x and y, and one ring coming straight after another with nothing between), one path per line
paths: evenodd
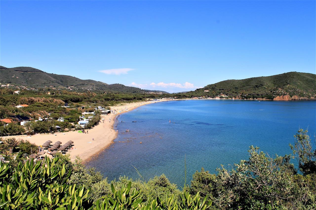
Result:
M7 68L0 66L0 83L10 83L27 87L71 87L78 90L104 90L128 93L144 93L145 91L121 84L106 84L92 79L79 79L67 75L46 73L32 67Z

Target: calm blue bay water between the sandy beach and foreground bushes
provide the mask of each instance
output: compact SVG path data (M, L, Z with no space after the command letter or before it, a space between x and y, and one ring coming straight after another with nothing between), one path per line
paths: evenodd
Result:
M201 167L216 173L221 164L231 168L248 159L250 145L272 157L289 154L288 145L299 128L308 128L314 139L315 117L315 101L185 100L149 104L119 115L115 124L118 137L87 166L96 167L109 179L122 175L137 179L136 167L146 180L164 173L171 182L183 186L184 160L187 179L191 180Z

